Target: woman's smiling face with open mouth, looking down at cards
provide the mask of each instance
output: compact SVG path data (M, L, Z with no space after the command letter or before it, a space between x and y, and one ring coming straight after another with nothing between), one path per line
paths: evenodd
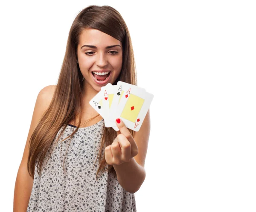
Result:
M84 29L79 37L77 56L84 87L99 92L102 86L113 84L120 74L122 42L97 29Z

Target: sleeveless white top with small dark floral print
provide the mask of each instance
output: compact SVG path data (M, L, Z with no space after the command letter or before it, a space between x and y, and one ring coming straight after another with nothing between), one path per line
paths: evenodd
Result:
M79 128L72 139L58 142L76 128L68 124L56 141L64 129L61 127L44 158L41 176L36 171L36 161L27 212L136 212L134 194L123 189L114 174L99 172L96 180L99 168L96 158L103 127L104 119L101 119L94 125ZM102 153L104 150L105 146Z

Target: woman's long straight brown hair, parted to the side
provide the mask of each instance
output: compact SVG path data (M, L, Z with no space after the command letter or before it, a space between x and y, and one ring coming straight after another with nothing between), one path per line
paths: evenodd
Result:
M76 130L65 138L68 139L71 137L71 141L73 134L78 131L78 128L81 125L83 76L76 60L79 35L83 29L87 28L97 29L122 42L122 69L119 77L113 84L116 84L118 81L124 81L129 84L137 85L136 67L131 38L122 16L111 6L92 5L81 10L70 28L66 52L52 101L40 119L29 140L27 168L29 174L33 178L35 175L36 162L38 162L37 172L38 174L41 174L42 165L44 159L46 158L47 151L53 144L55 136L61 127L64 126L58 138L56 138L57 141L64 133L67 123L72 120L76 120L76 117L79 117L79 124ZM93 117L92 119L96 117ZM128 130L133 136L134 131L130 129ZM97 170L96 177L100 171L107 170L113 171L113 173L116 175L113 166L109 166L108 169L105 168L107 163L105 160L104 151L106 146L112 144L113 140L116 138L116 135L116 131L113 130L113 128L106 128L105 126L103 127L101 145L97 155L97 160L99 159L99 168ZM65 139L61 140L60 142L64 141Z

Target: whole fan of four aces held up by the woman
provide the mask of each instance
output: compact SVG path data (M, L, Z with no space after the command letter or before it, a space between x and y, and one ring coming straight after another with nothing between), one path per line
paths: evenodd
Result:
M145 89L119 81L102 87L89 104L103 117L105 127L118 131L115 121L119 118L127 128L139 131L152 99Z

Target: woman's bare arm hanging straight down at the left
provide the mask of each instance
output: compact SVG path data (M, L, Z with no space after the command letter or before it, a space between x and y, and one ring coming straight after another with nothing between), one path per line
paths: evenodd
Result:
M26 140L23 157L18 169L13 200L13 212L26 212L29 198L33 187L33 178L27 170L27 160L29 155L29 139L40 121L45 110L47 110L51 102L55 86L49 85L44 87L39 93L35 102L35 108L32 115L32 121L29 128L29 134Z

